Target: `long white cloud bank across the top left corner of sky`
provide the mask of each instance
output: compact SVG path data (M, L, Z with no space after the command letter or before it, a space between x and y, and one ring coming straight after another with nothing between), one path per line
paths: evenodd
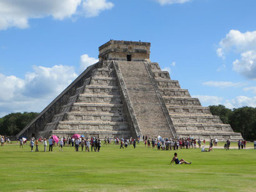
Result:
M75 14L98 16L101 11L114 6L107 0L1 0L0 30L8 27L29 27L29 19L52 16L65 19Z

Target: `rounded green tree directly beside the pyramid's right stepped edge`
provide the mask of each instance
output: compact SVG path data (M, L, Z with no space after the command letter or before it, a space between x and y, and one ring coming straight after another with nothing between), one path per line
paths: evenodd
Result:
M217 115L223 123L230 124L230 115L232 115L232 110L226 108L224 105L210 105L209 108L212 115Z

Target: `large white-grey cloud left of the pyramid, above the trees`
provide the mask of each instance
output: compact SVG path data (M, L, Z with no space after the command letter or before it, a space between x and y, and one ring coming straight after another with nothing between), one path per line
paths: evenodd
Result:
M33 69L24 79L0 74L0 117L11 112L40 112L77 77L74 67L64 65Z

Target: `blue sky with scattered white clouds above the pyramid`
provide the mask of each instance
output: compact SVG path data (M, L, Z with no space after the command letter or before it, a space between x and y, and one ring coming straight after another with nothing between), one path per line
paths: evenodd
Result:
M41 112L110 39L150 59L204 106L256 107L254 0L1 0L0 117Z

